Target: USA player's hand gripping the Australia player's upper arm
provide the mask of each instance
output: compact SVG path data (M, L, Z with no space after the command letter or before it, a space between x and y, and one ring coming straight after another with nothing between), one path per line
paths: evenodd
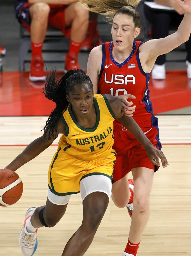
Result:
M133 102L129 102L127 99L136 99L136 97L132 94L124 94L117 97L121 100L124 114L126 116L133 116L133 112L135 112L136 106L132 106Z

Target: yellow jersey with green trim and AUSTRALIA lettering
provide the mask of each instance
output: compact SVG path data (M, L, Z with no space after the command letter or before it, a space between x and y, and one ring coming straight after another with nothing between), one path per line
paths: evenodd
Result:
M77 122L70 104L63 112L62 120L66 133L60 138L59 145L66 153L82 159L96 159L111 153L113 146L113 120L115 115L105 94L94 94L97 121L92 129L83 128Z

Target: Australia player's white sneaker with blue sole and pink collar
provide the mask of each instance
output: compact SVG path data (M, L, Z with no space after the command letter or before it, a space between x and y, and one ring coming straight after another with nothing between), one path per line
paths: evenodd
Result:
M24 256L32 256L36 252L38 245L36 238L38 229L36 229L34 233L29 233L25 225L26 220L34 213L35 210L36 207L31 207L26 211L24 224L19 235L19 245Z

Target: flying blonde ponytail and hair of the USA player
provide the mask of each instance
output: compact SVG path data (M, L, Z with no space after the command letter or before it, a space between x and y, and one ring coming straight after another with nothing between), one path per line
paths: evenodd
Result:
M136 7L141 0L80 0L86 9L105 15L109 21L113 21L116 14L127 14L133 17L135 27L140 27L140 15Z

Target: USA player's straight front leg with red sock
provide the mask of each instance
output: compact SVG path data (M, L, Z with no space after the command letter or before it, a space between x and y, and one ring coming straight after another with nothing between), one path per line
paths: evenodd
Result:
M125 252L136 255L141 236L150 215L150 192L153 185L154 170L145 167L132 169L134 180L133 213L129 240Z

